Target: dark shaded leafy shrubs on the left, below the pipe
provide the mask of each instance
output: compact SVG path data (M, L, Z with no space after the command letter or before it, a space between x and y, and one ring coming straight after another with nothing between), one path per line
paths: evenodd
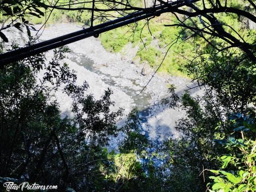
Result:
M58 185L62 191L67 186L95 190L96 180L102 180L97 167L106 156L102 146L116 134L115 120L122 110L110 112L111 90L95 100L86 94L86 83L74 84L76 75L59 63L67 50L55 50L49 64L37 55L0 71L1 177ZM44 77L37 83L42 68ZM61 119L58 103L51 100L51 90L60 84L73 99L72 119Z

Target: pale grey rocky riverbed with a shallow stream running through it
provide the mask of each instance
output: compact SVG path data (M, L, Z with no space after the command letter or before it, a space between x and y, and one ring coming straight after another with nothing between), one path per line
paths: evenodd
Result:
M36 27L40 28L40 26ZM77 30L81 30L81 26L74 23L50 25L44 29L39 40L48 40ZM172 110L161 100L169 97L167 93L169 84L175 84L178 94L192 87L193 84L189 79L157 73L143 90L154 71L148 70L146 75L145 73L142 75L143 65L132 61L137 47L128 44L121 55L106 51L99 38L93 37L69 44L68 47L71 52L63 62L77 72L78 84L87 81L90 86L88 94L93 93L95 98L99 99L104 90L109 87L113 91L111 99L115 101L112 110L123 108L125 115L128 115L134 107L141 111L141 134L153 143L152 148L148 148L149 152L154 151L168 137L180 137L180 132L175 129L175 121L185 115L184 111ZM50 58L50 56L51 53L48 53L47 57ZM141 90L143 90L142 93L140 93ZM192 91L194 95L201 92L196 89ZM55 93L55 97L60 104L63 116L72 115L71 99L61 90ZM122 122L125 122L125 118ZM119 142L123 138L122 133L119 137L113 138L110 143L111 148L118 150Z

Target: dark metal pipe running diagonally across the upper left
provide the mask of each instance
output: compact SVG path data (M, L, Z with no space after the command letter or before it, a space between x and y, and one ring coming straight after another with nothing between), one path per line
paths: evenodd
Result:
M191 3L194 3L196 1L198 1L198 0L192 0ZM125 16L126 17L125 20L123 20L123 17L122 17L122 18L119 18L119 19L116 19L116 20L113 20L113 21L109 21L107 23L112 23L112 24L106 24L105 27L100 28L99 26L103 26L105 24L105 23L102 23L100 25L94 26L93 31L92 31L91 28L87 28L87 30L89 29L89 31L87 33L84 32L84 30L86 30L86 29L84 29L84 30L80 30L78 32L70 33L70 34L63 35L61 37L52 39L54 41L48 40L48 41L38 43L39 45L35 44L35 45L29 46L29 47L24 47L24 48L17 49L15 51L8 52L9 55L13 55L13 56L10 56L10 57L8 57L8 56L6 57L7 54L4 53L5 57L3 57L3 58L1 57L2 59L0 60L0 66L3 67L6 64L24 59L26 57L36 55L36 54L41 53L41 52L49 51L51 49L55 49L57 47L67 45L67 44L79 41L81 39L84 39L84 38L99 35L102 32L107 32L109 30L116 29L118 27L125 26L125 25L134 23L134 22L139 21L139 20L143 20L145 18L152 17L154 15L160 15L164 12L170 12L172 9L174 9L174 8L176 9L176 8L184 6L184 5L186 5L185 2L182 2L182 3L179 3L179 4L177 4L177 2L172 2L172 5L169 4L169 6L167 6L164 9L160 9L160 10L155 11L155 12L149 12L149 13L146 13L144 15L137 16L137 17L134 17L133 14L132 14L132 17L131 17L131 15L127 15L127 16ZM162 8L163 8L163 6L162 6ZM142 11L142 12L145 13L145 11ZM128 16L131 17L131 18L127 19ZM118 20L118 22L117 22L117 20ZM80 34L80 33L81 33L81 35L74 36L74 34ZM68 38L68 37L71 37L71 38ZM64 39L64 40L58 41L59 39ZM52 43L52 42L55 42L55 43ZM4 55L4 54L2 54L2 55Z

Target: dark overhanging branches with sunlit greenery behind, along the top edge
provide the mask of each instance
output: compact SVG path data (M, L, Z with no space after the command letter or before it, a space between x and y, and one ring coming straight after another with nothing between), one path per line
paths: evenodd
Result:
M250 38L244 37L244 34L237 31L234 26L227 25L221 21L218 17L221 14L231 15L233 17L239 16L240 20L250 20L256 23L256 17L253 15L256 11L256 5L251 0L244 1L246 6L242 6L239 2L231 2L228 0L216 0L216 1L186 1L181 2L188 7L188 9L172 7L172 3L162 0L150 1L141 1L140 3L133 3L129 0L126 1L83 1L75 0L70 2L69 0L55 0L50 2L45 2L42 0L33 1L29 3L28 0L22 1L3 1L0 7L0 10L4 11L3 15L14 18L12 24L18 27L20 22L16 22L19 18L23 18L22 22L26 26L29 23L24 19L26 15L36 15L38 17L43 16L44 12L41 9L48 10L52 12L53 9L57 10L69 10L69 11L90 11L90 25L93 27L93 20L97 19L100 22L105 22L112 18L122 17L133 13L135 11L145 11L145 12L155 12L158 5L163 7L168 7L164 12L171 12L177 18L175 24L167 24L166 26L180 26L183 28L183 31L190 31L188 38L193 36L200 36L204 41L209 45L214 47L219 52L239 48L241 49L246 57L250 58L251 61L255 61L255 41ZM169 4L168 4L169 3ZM149 4L149 6L148 6ZM32 11L29 11L32 10ZM149 22L153 17L146 18L146 23ZM47 19L46 19L47 21ZM11 26L10 24L2 27L0 30L4 30L7 27ZM27 26L27 29L29 26ZM148 28L150 30L150 28ZM29 29L28 29L29 31ZM3 33L1 33L3 39L6 40ZM250 35L249 36L253 36ZM215 37L219 39L220 43L216 44ZM179 36L178 38L181 38ZM252 40L252 41L251 41Z

